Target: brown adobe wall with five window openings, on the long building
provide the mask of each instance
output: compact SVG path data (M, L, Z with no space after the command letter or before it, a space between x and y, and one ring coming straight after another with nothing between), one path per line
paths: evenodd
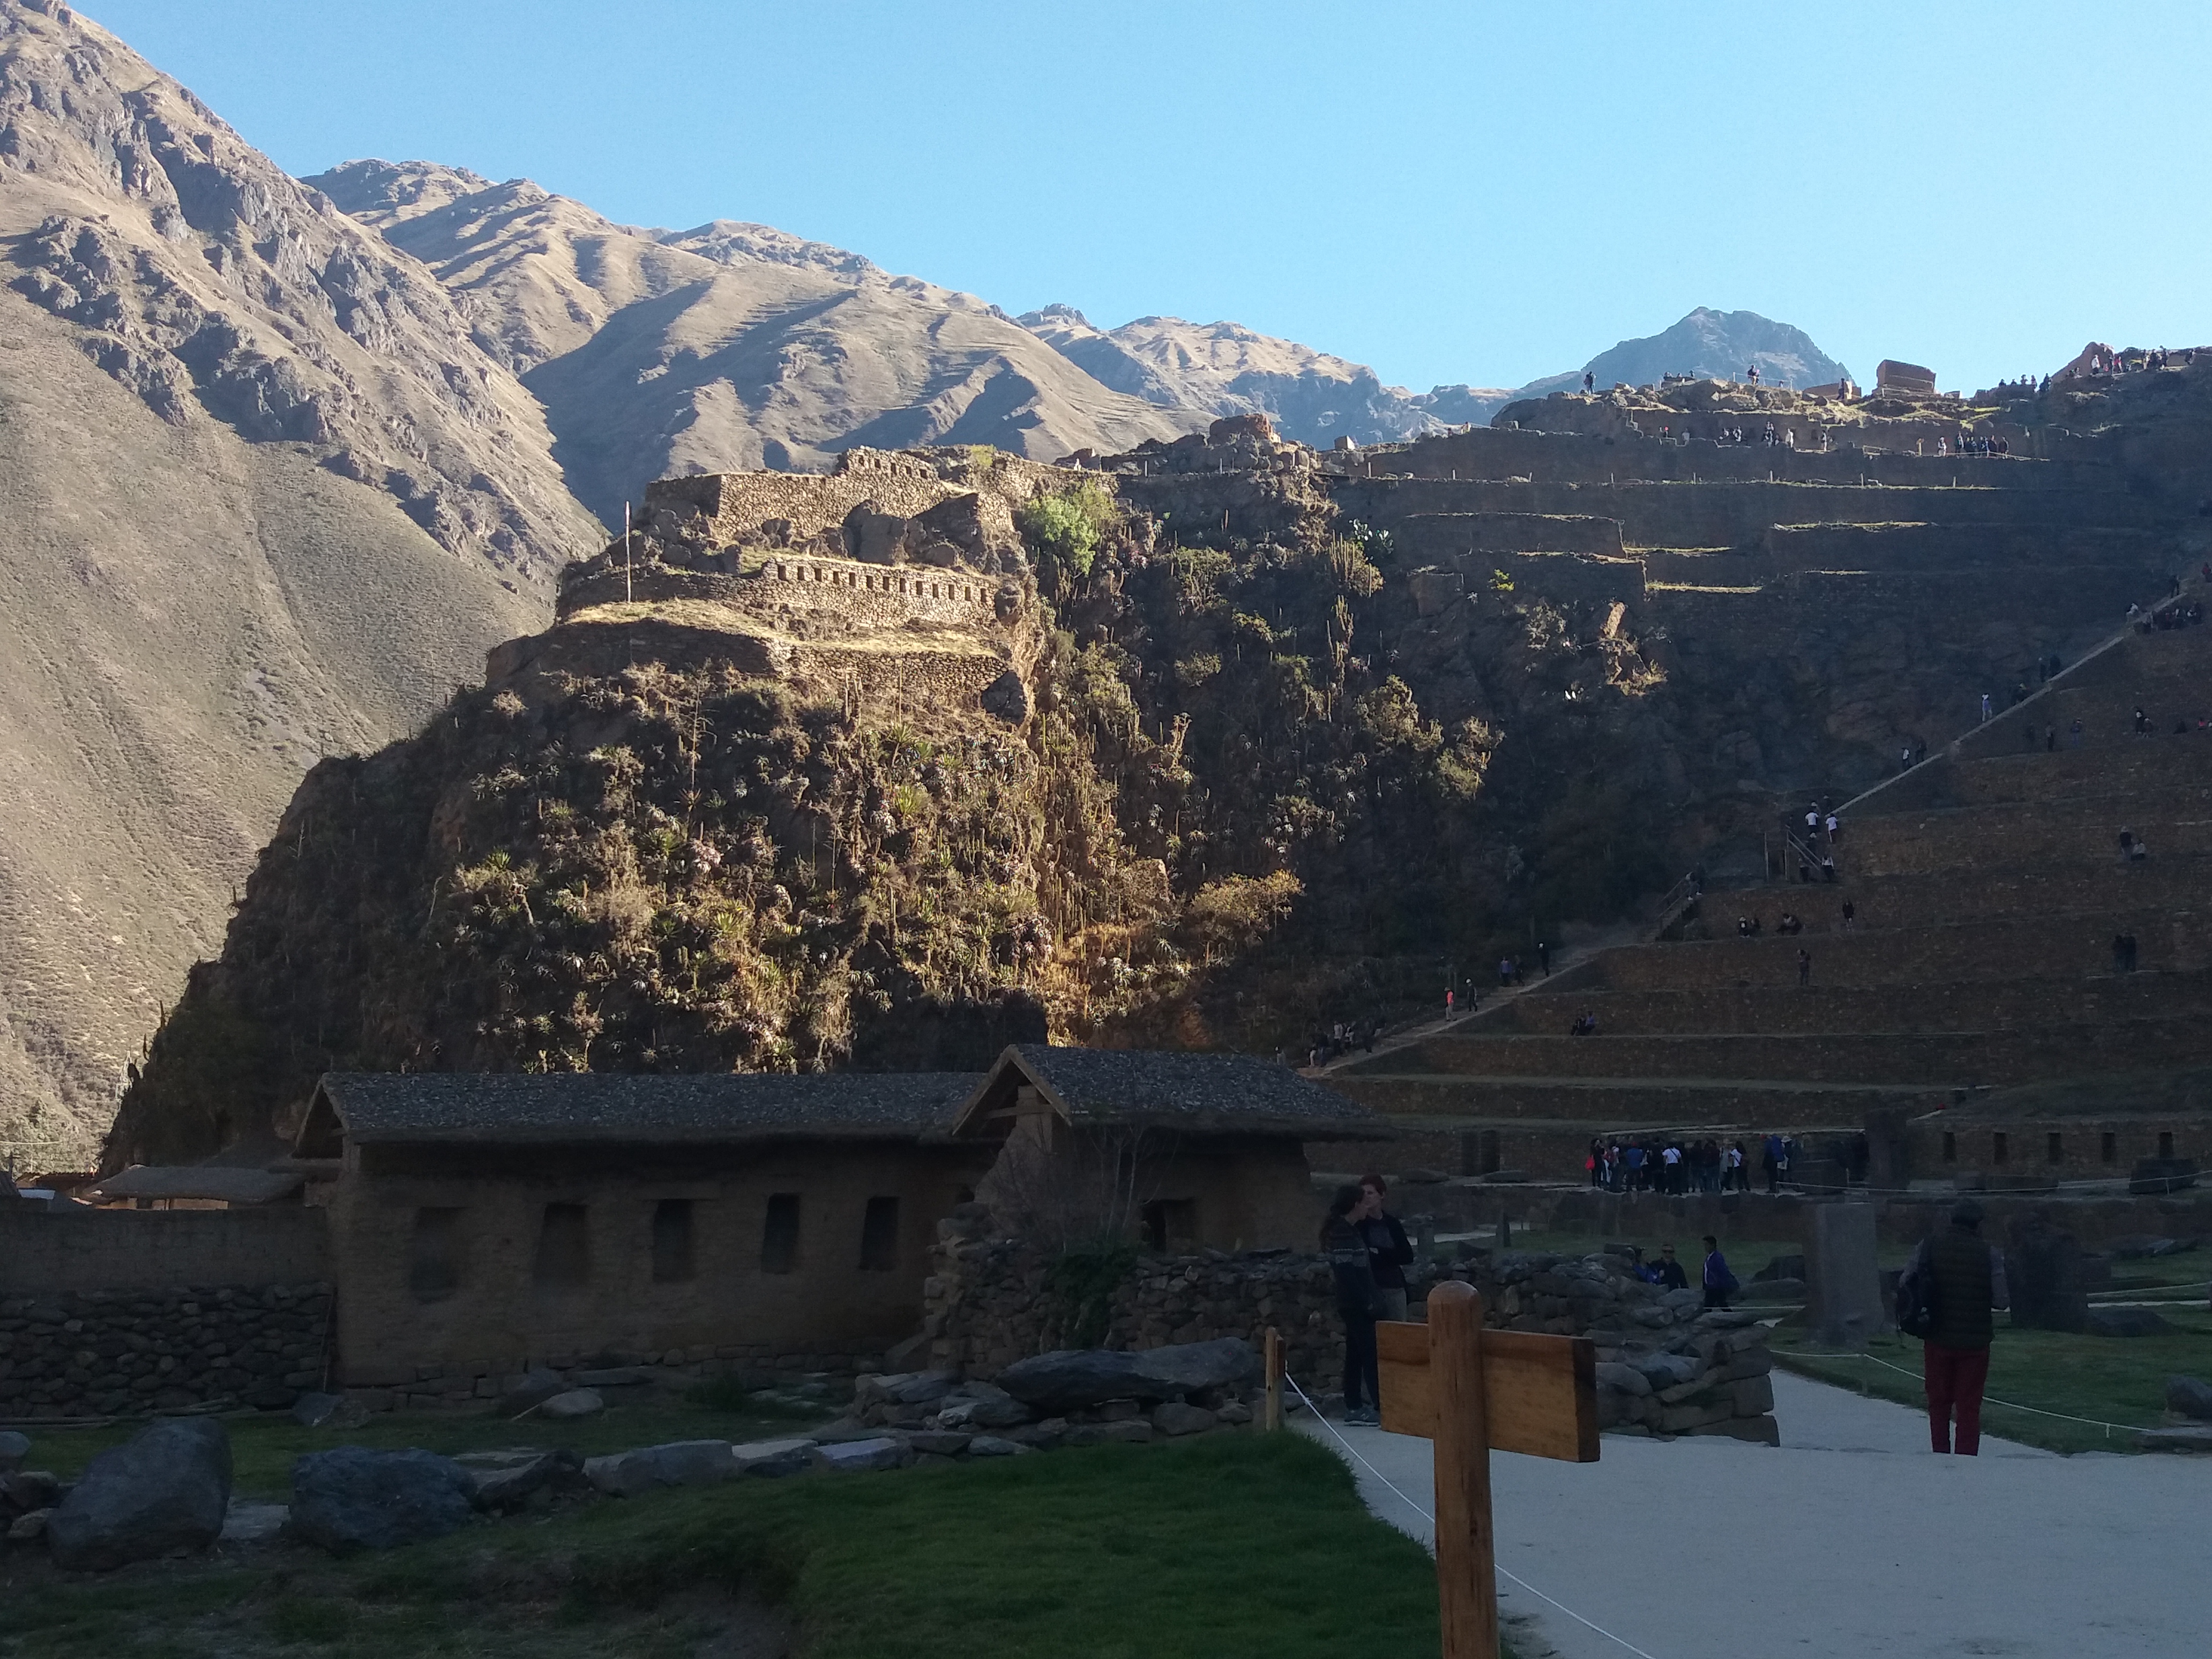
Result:
M330 1206L341 1376L349 1387L471 1398L526 1363L580 1356L852 1371L914 1332L938 1217L980 1175L967 1148L763 1146L562 1157L500 1148L363 1148ZM770 1194L799 1194L790 1272L763 1263ZM898 1199L889 1270L860 1270L872 1197ZM655 1283L653 1217L692 1203L692 1276ZM538 1276L551 1203L586 1208L582 1283ZM449 1290L411 1281L420 1210L453 1210Z

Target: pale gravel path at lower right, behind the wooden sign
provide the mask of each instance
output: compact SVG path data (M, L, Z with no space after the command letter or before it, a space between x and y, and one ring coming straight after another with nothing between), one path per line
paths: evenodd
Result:
M1783 1447L1606 1436L1597 1464L1498 1453L1498 1566L1650 1659L2201 1659L2212 1458L2059 1458L1982 1440L1936 1458L1927 1418L1774 1374ZM1303 1433L1343 1451L1312 1418ZM1345 1438L1429 1511L1429 1442ZM1354 1464L1376 1515L1427 1515ZM1522 1659L1628 1659L1511 1579Z

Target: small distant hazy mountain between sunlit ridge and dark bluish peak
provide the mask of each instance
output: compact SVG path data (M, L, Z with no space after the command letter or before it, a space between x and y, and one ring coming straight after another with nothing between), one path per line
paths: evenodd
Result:
M1321 447L1336 438L1396 442L1480 425L1513 396L1467 385L1440 385L1425 394L1387 387L1363 363L1254 334L1239 323L1139 316L1117 330L1099 330L1073 305L1024 312L1020 323L1115 392L1161 409L1263 414L1283 436Z

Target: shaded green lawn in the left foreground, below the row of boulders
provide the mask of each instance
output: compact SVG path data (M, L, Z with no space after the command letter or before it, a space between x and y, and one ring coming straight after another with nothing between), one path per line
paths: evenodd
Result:
M1292 1433L584 1502L352 1562L288 1551L69 1586L0 1559L9 1659L768 1659L774 1632L743 1632L774 1619L803 1659L1438 1648L1429 1555Z

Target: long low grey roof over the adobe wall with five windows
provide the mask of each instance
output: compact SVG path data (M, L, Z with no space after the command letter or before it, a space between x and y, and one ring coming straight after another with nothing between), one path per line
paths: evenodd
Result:
M354 1144L732 1144L942 1133L982 1079L967 1071L774 1073L334 1071L316 1084L301 1152Z

